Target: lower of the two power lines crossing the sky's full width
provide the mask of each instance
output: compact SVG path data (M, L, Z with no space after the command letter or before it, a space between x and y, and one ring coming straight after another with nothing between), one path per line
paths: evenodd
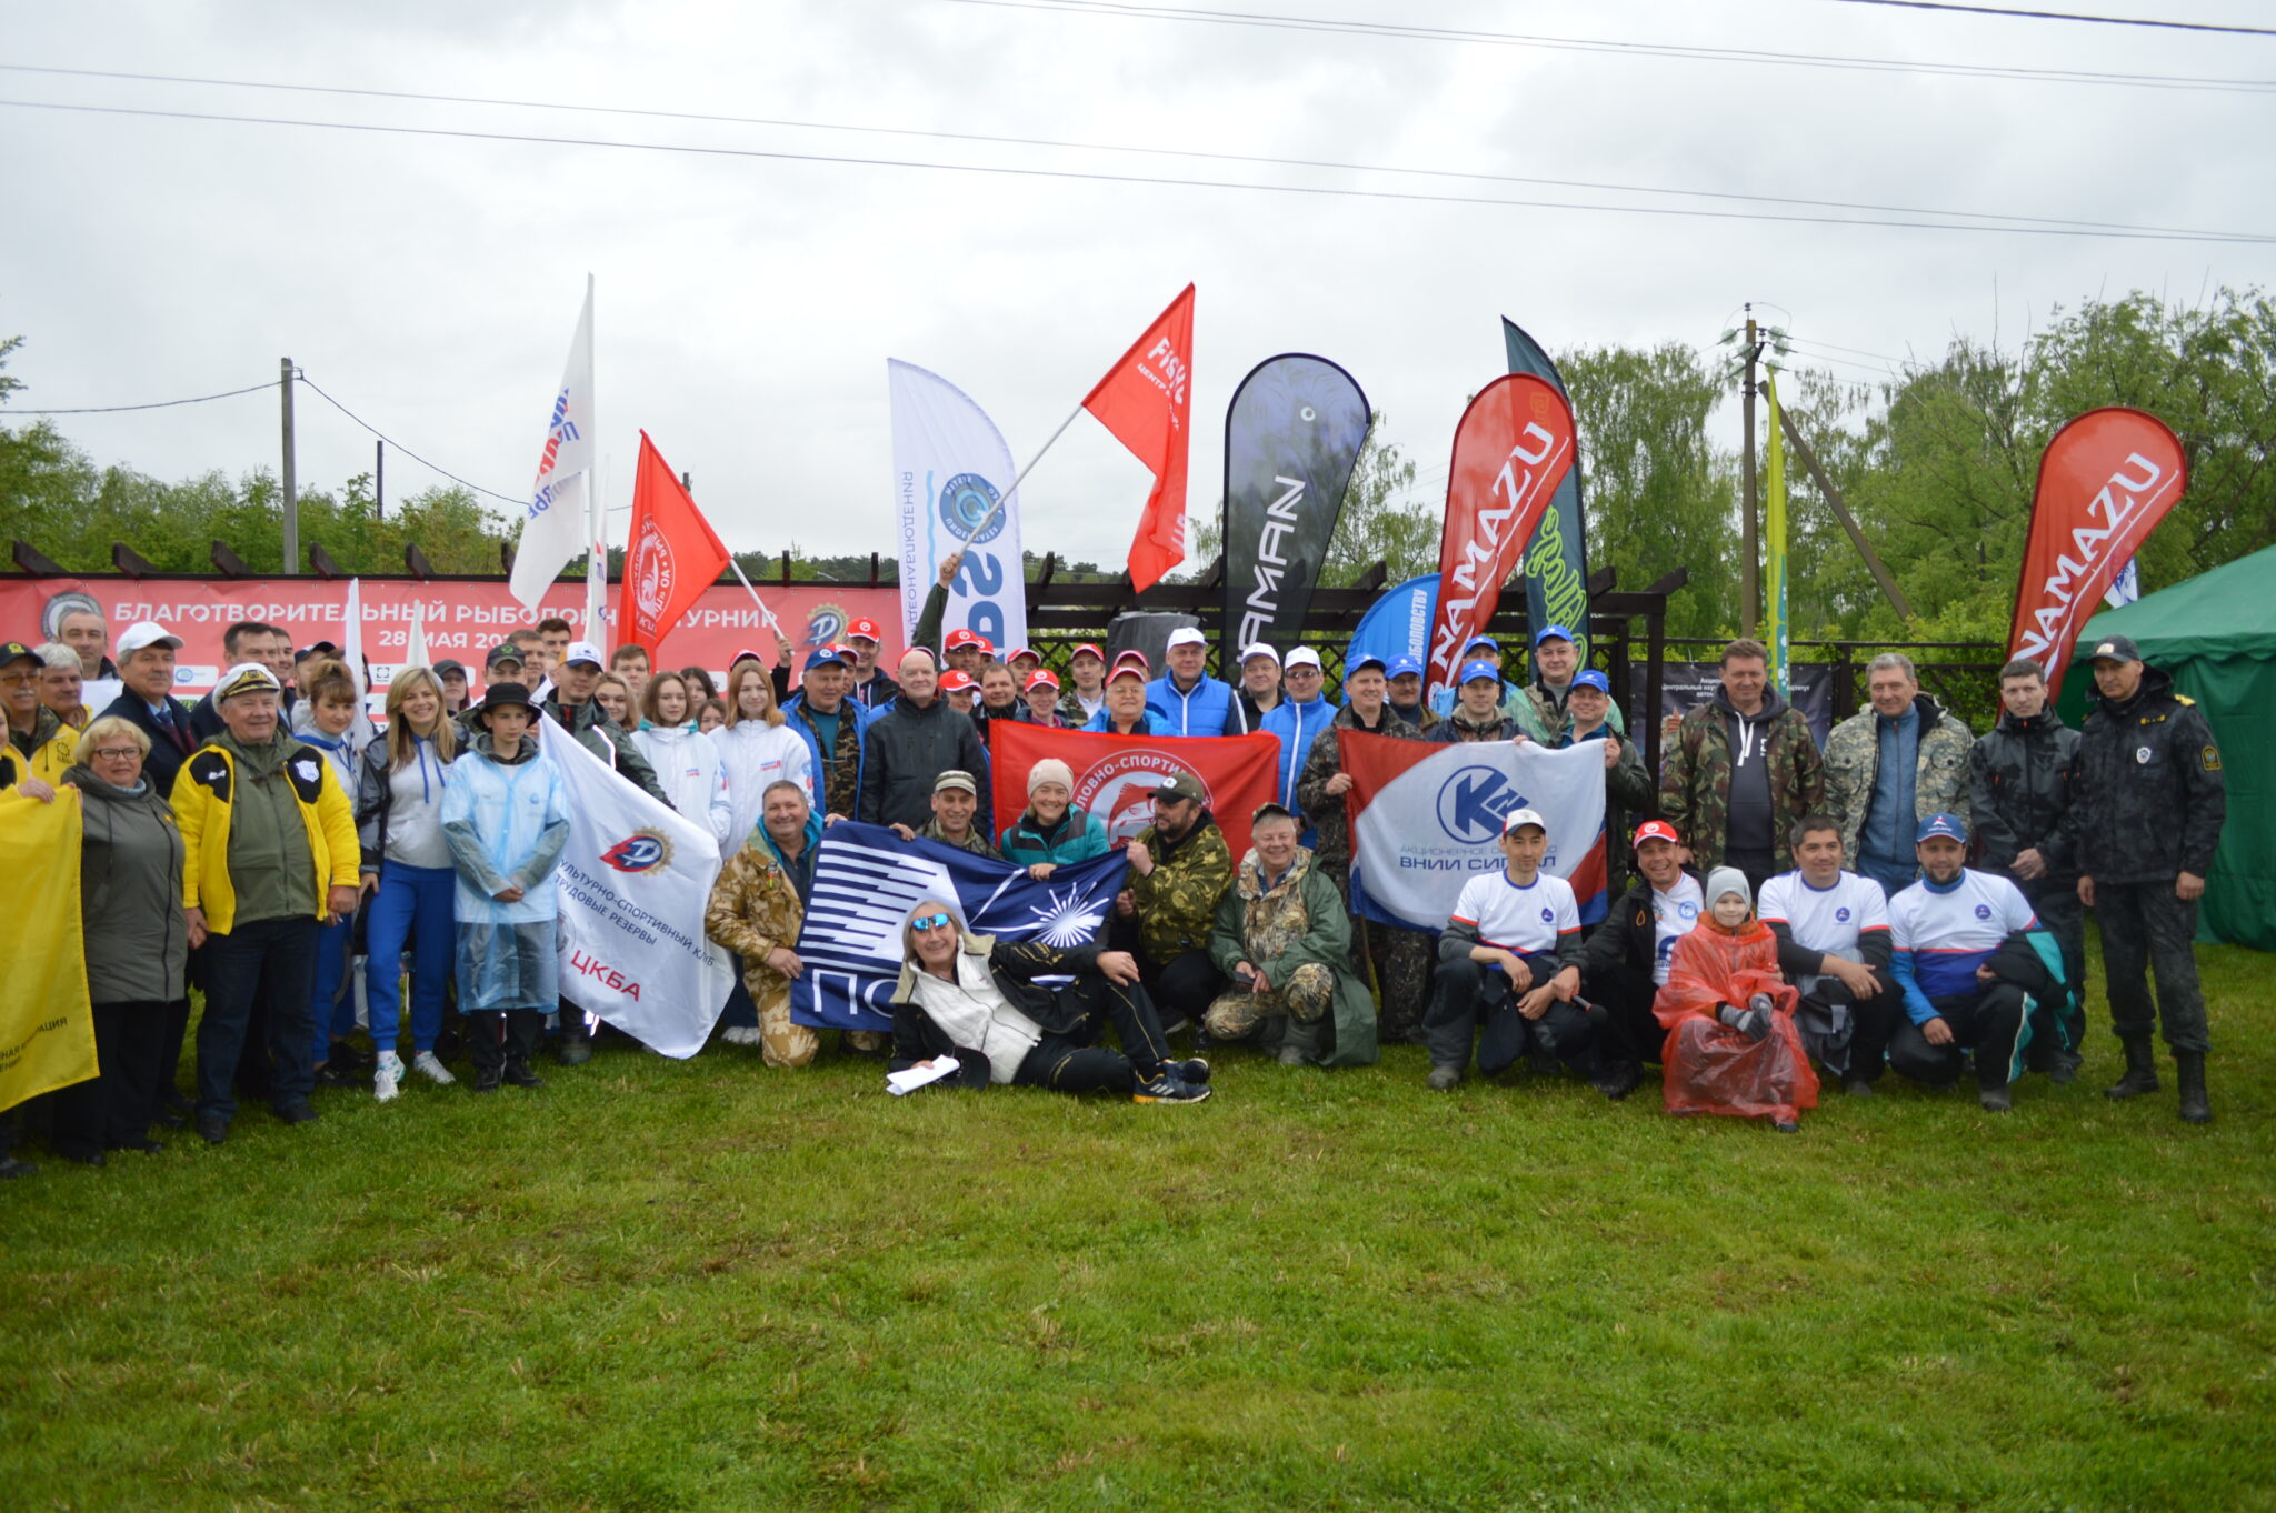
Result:
M1352 200L1397 200L1416 205L1489 205L1500 209L1582 209L1602 212L1621 216L1680 216L1693 221L1773 221L1789 225L1859 225L1859 228L1885 228L1885 230L1941 230L1941 232L2005 232L2014 237L2108 237L2119 241L2219 241L2219 243L2246 243L2265 246L2276 241L2276 237L2262 237L2258 232L2160 232L2160 230L2092 230L2092 228L2062 228L2062 225L2023 225L2014 221L1991 223L1991 221L1894 221L1875 216L1787 216L1768 212L1743 212L1743 209L1682 209L1673 205L1591 205L1580 200L1504 200L1493 196L1459 196L1459 193L1420 193L1404 189L1343 189L1331 184L1245 184L1231 180L1190 180L1190 177L1165 177L1165 175L1140 175L1140 173L1083 173L1077 168L1013 168L1001 164L945 164L929 159L904 159L904 157L853 157L842 152L781 152L765 148L706 148L676 141L608 141L599 137L544 137L537 132L473 132L464 127L437 127L437 125L380 125L371 121L300 121L289 116L232 116L218 111L171 111L171 109L146 109L127 105L64 105L59 100L0 100L0 107L14 109L59 109L80 111L93 116L148 116L159 121L221 121L232 125L291 125L312 127L328 132L373 132L387 137L444 137L460 141L512 141L512 143L537 143L558 148L617 148L626 152L685 152L692 157L747 157L765 162L792 162L792 164L833 164L833 166L865 166L865 168L926 168L935 173L983 173L997 177L1033 177L1033 180L1077 180L1092 184L1138 184L1154 189L1240 189L1252 193L1309 193L1329 198L1352 198Z

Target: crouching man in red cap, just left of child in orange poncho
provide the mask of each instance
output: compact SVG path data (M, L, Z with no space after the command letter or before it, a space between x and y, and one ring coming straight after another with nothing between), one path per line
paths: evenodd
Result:
M1643 1063L1659 1060L1668 1031L1652 1012L1652 999L1668 983L1675 942L1707 912L1705 883L1682 855L1682 835L1666 819L1636 826L1636 880L1582 946L1580 987L1589 1003L1605 1010L1602 1090L1614 1099L1636 1090Z

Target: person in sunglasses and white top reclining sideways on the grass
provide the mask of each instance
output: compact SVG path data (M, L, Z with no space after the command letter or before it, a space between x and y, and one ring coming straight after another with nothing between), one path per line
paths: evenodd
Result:
M1074 981L1047 987L1038 976ZM1115 1026L1120 1051L1097 1044L1102 1017ZM972 1088L1104 1088L1133 1103L1209 1097L1209 1063L1170 1060L1170 1040L1127 951L965 935L949 906L926 899L901 924L892 1069L931 1067L942 1056L956 1058L956 1081Z

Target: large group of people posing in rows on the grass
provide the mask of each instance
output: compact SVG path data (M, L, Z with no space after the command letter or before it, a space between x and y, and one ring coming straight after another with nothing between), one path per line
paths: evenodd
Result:
M1063 687L1031 651L997 660L983 637L940 637L954 569L892 676L867 621L813 648L794 692L787 639L774 667L737 653L715 689L703 669L655 671L640 646L603 660L544 621L487 655L478 701L457 662L398 671L385 730L364 714L362 669L255 621L230 626L230 667L196 708L173 696L180 637L150 621L118 637L116 662L100 619L96 635L0 644L0 787L80 805L82 919L102 942L86 953L102 1074L55 1097L52 1149L100 1165L189 1122L218 1144L239 1097L303 1124L319 1085L369 1081L385 1101L410 1076L457 1081L453 1040L476 1092L539 1085L546 1035L564 1065L587 1060L594 1026L555 972L551 874L569 815L546 739L576 739L715 835L724 867L703 924L737 958L721 1035L806 1065L822 1037L792 1022L790 985L828 824L890 826L1033 876L1108 849L1058 760L1022 774L1020 815L992 812L999 721L1268 733L1279 792L1234 858L1195 780L1165 783L1086 949L972 937L947 901L920 906L892 1033L844 1035L897 1072L956 1056L956 1081L1193 1103L1209 1097L1209 1047L1350 1065L1413 1042L1432 1088L1459 1085L1475 1058L1486 1074L1564 1067L1618 1099L1657 1063L1668 1108L1780 1128L1814 1106L1819 1067L1862 1097L1885 1067L1951 1085L1973 1065L1982 1106L2001 1110L2023 1069L2076 1076L2083 910L2096 908L2126 1053L2110 1094L2158 1090L2162 1019L2180 1113L2210 1119L2190 942L2221 826L2219 749L2124 637L2089 648L2083 730L2053 712L2032 662L2012 662L1998 726L1978 739L1891 653L1869 669L1871 708L1823 751L1768 685L1766 651L1732 642L1655 783L1605 676L1559 626L1532 637L1527 678L1477 637L1438 698L1413 660L1359 658L1338 703L1311 648L1272 646L1245 648L1236 687L1209 676L1197 630L1170 635L1161 676L1145 653L1079 646ZM93 678L121 685L102 710L80 701ZM1445 928L1361 919L1345 730L1598 742L1625 890L1582 921L1570 885L1543 871L1545 819L1520 808L1504 867L1463 887ZM205 997L193 1101L175 1085L191 985ZM351 1044L357 1017L369 1053ZM1108 1028L1120 1051L1102 1047ZM1193 1056L1172 1051L1184 1033ZM0 1119L0 1174L27 1169L11 1133Z

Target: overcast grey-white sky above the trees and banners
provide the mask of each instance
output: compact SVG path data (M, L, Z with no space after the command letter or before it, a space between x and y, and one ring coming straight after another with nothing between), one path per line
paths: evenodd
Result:
M1163 0L1143 0L1154 7ZM2026 0L1991 0L2023 7ZM2017 68L2276 80L2276 36L2001 20L1834 0L1195 0L1495 34ZM1122 7L1133 9L1133 7ZM2076 9L2267 25L2253 0ZM972 394L1024 462L1190 280L1190 507L1222 480L1250 366L1347 366L1443 491L1498 316L1545 346L1712 344L1743 300L1846 378L2014 344L2055 303L2276 282L2276 243L2037 237L1561 209L1864 216L1634 189L2276 232L2276 98L1771 66L1495 41L1211 25L958 0L394 0L0 5L5 64L699 111L783 125L0 73L0 98L385 123L731 152L626 150L0 109L0 337L16 407L127 405L312 380L405 446L521 496L596 278L601 453L630 501L637 432L694 473L737 551L888 546L885 359ZM1313 159L1161 157L988 137ZM1247 189L790 162L897 159L1218 180ZM1529 200L1452 205L1259 184ZM1878 216L1919 221L1923 216ZM98 462L159 478L278 462L271 394L64 416ZM371 469L371 437L300 400L300 480ZM389 494L435 482L389 457ZM1120 562L1147 476L1079 419L1022 489L1026 544ZM1443 494L1434 494L1441 498ZM624 514L617 514L621 541Z

